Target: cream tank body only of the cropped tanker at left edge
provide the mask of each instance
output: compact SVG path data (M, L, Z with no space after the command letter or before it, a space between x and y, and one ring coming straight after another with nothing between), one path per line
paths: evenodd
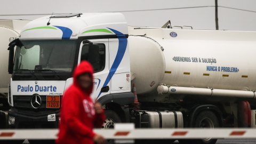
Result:
M19 37L28 20L0 20L0 93L8 92L11 75L8 74L9 43Z

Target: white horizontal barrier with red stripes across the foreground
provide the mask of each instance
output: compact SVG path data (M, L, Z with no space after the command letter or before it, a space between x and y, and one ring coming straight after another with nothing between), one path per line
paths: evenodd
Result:
M256 129L134 129L133 124L116 124L115 129L94 129L106 139L253 139ZM56 139L58 129L0 130L0 140Z

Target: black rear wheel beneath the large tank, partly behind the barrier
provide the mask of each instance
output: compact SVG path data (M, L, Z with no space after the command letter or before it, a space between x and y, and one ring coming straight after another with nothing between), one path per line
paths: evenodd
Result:
M214 128L219 127L219 121L217 116L210 110L204 110L196 118L195 126L199 128ZM196 139L196 143L199 144L214 144L217 139L205 138L205 139Z

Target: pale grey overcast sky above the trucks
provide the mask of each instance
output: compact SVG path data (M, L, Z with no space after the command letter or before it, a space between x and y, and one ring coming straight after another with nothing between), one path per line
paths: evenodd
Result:
M172 25L189 25L193 26L194 29L215 29L214 0L0 1L0 19L33 20L43 17L42 14L51 14L52 12L121 11L130 26L162 27L166 21L171 20ZM218 5L221 6L219 7L219 29L256 31L255 0L219 0Z

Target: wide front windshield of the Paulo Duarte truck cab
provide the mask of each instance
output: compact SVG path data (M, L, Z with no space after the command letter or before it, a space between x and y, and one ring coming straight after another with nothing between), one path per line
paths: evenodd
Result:
M75 51L76 40L21 40L15 52L14 73L49 70L70 73L74 66Z

